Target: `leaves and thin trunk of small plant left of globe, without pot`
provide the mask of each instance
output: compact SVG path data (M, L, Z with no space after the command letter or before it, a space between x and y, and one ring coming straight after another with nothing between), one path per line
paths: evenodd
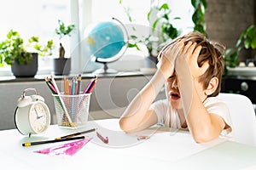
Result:
M61 20L58 20L58 24L59 26L55 28L55 34L59 36L59 39L61 40L61 38L65 36L71 37L71 33L75 29L75 26L74 25L65 26L64 22ZM60 42L59 57L64 58L64 55L65 55L65 48L63 48Z

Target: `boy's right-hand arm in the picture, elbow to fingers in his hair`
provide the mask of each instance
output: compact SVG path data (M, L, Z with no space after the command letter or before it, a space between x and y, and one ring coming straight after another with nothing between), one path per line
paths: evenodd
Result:
M200 51L201 47L195 48L195 43L189 42L186 46L183 45L175 65L189 131L195 141L199 143L217 138L225 126L222 117L209 114L203 105L203 99L207 98L207 94L204 94L206 91L200 92L198 88L195 88L195 86L202 86L197 82L196 78L201 76L208 67L207 63L201 67L197 65ZM216 85L214 81L210 82L213 83L212 86ZM218 84L218 81L215 83Z

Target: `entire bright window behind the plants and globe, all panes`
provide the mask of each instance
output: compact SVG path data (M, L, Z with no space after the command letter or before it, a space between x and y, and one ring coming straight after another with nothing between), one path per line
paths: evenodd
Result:
M28 37L38 36L40 42L46 42L54 39L55 48L53 55L50 57L40 57L38 74L50 74L52 71L52 58L58 56L59 39L55 35L55 27L58 26L58 20L62 20L67 24L77 26L76 35L72 38L66 38L66 54L72 56L72 72L94 71L102 65L98 65L90 61L88 49L83 46L84 32L93 24L112 20L112 17L122 21L126 26L131 24L125 14L125 8L130 9L133 19L132 23L136 26L143 27L143 33L150 31L147 14L154 0L9 0L0 6L0 41L2 41L10 29L19 31L20 35L27 41ZM182 20L177 20L174 24L182 31L191 31L193 23L191 14L193 12L190 1L187 0L171 0L159 1L160 3L168 2L172 8L173 17L179 16ZM182 8L181 8L182 7ZM15 12L14 12L15 11ZM3 17L6 16L6 17ZM152 23L151 23L152 25ZM125 57L121 57L119 62L111 65L114 67L124 68L131 62L131 69L139 68L143 64L137 62L142 60L144 52L139 52L135 48L129 48L129 53L125 53ZM136 62L134 62L134 60ZM116 64L118 63L118 64ZM0 76L10 76L9 66L0 67Z

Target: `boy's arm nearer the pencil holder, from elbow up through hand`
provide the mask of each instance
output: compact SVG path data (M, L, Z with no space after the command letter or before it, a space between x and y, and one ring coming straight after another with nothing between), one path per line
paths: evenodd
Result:
M143 130L157 123L156 113L149 109L149 106L160 92L166 79L172 76L176 56L177 55L170 56L170 52L166 50L161 54L161 59L158 64L159 69L155 72L154 77L152 77L146 86L131 101L131 104L128 105L119 120L120 127L126 133Z

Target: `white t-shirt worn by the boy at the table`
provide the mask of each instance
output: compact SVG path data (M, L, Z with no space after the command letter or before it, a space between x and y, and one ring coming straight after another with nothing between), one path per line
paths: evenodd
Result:
M218 99L218 97L208 97L203 105L207 108L209 113L214 113L221 116L224 122L230 126L230 128L224 129L221 133L224 136L232 137L232 122L230 117L230 110L224 101ZM173 109L167 99L161 99L150 106L154 110L158 117L158 123L163 123L166 127L182 128L182 122L177 115L177 110Z

